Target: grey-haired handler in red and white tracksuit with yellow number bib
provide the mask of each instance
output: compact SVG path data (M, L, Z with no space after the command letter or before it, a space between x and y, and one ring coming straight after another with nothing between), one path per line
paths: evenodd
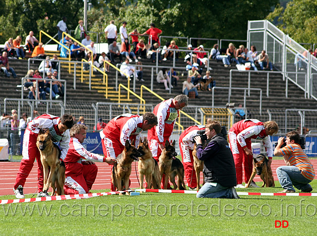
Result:
M164 143L173 132L176 119L179 117L179 110L186 107L187 104L188 97L180 94L155 106L153 113L158 117L159 124L148 131L148 140L152 156L158 162L159 156L164 149ZM162 183L163 181L164 177L162 178ZM169 187L170 185L168 184Z

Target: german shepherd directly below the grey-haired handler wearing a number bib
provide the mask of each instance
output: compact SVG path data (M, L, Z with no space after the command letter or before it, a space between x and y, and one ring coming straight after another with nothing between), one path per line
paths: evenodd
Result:
M175 152L175 140L172 144L170 144L168 140L166 140L165 147L162 150L161 155L159 156L159 183L162 181L163 174L165 175L163 189L167 189L168 177L172 166L172 159L175 159L176 156L177 153Z

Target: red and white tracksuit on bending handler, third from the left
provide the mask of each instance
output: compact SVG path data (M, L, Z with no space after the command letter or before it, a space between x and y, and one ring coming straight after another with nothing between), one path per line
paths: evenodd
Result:
M134 140L137 147L140 133L143 130L142 125L143 117L139 115L126 113L111 119L104 130L100 131L105 157L116 158L119 156L124 150L126 140L130 140L130 142ZM114 191L112 184L111 191Z

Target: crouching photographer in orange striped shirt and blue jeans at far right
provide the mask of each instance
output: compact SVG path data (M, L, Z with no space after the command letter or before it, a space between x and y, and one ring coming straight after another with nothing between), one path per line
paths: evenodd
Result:
M315 170L301 147L302 143L303 138L300 138L297 131L286 134L286 146L283 147L284 137L280 137L277 141L274 156L283 156L286 163L286 166L280 166L276 169L278 181L284 189L280 193L295 193L293 186L304 193L313 191L309 183L315 177Z

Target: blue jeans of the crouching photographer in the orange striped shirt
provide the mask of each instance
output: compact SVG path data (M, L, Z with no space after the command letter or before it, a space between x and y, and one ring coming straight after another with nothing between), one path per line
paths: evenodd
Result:
M283 189L293 190L293 185L296 189L306 190L312 186L309 184L312 182L309 179L306 179L302 174L301 170L296 166L280 166L276 169L276 174L279 183Z

